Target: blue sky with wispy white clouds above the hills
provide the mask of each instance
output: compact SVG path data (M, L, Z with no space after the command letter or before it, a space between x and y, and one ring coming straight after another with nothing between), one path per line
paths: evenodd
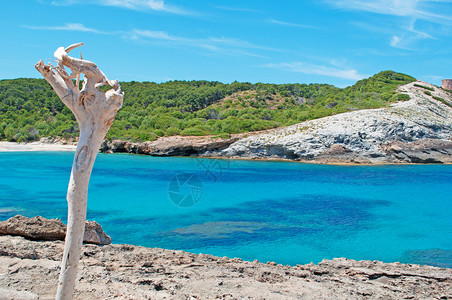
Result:
M452 0L16 0L0 27L0 79L39 78L38 60L76 42L121 81L452 78Z

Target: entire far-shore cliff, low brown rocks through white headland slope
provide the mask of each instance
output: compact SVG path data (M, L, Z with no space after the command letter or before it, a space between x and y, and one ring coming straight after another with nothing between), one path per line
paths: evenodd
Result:
M400 86L397 92L410 100L229 139L105 141L101 151L315 163L452 163L451 93L422 81Z

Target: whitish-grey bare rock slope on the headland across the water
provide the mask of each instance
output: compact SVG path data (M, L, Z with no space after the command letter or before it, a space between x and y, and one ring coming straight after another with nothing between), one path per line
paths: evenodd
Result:
M444 99L448 105L425 94L428 90L414 86L416 83L433 88L431 95ZM315 161L339 154L345 155L347 162L379 163L390 162L387 151L391 142L430 139L451 142L449 93L422 81L401 86L399 91L411 99L385 108L353 111L270 130L241 139L220 155Z

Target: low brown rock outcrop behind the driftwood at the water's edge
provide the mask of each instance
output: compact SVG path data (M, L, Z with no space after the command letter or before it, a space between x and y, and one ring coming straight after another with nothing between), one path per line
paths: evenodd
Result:
M14 216L0 222L1 235L19 235L31 240L64 241L66 225L60 219L46 219L41 216L27 218L21 215ZM95 221L85 222L84 243L108 245L111 238Z

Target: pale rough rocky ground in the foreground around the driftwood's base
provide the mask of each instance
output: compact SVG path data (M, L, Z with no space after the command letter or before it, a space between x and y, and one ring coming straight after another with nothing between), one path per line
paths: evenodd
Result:
M62 241L0 236L0 299L54 299ZM144 248L82 249L75 299L451 299L452 269L345 258L283 266Z

